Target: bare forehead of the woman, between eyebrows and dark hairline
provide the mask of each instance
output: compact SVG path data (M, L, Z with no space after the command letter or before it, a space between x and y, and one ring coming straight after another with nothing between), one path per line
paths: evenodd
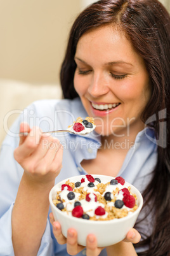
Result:
M115 25L105 25L86 32L77 43L75 56L83 59L95 57L106 62L117 59L126 62L131 59L134 64L143 62L125 32Z

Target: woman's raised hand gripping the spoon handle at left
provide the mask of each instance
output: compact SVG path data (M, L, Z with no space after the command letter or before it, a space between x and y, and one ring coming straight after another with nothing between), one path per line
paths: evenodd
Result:
M20 125L20 144L14 152L16 161L23 167L27 177L36 183L55 181L62 168L62 145L50 134L42 134L38 127L30 130L28 124Z

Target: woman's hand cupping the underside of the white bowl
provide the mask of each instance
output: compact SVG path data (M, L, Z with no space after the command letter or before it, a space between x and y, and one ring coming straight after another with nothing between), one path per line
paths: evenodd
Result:
M51 222L51 224L53 225L53 234L55 235L55 238L57 240L57 242L60 245L63 245L65 243L67 243L67 252L70 255L76 255L77 253L81 252L81 250L83 250L84 246L78 245L77 244L77 232L74 229L68 229L67 232L67 238L65 238L65 236L63 236L62 234L62 229L61 229L61 225L59 222L56 222L54 217L53 217L53 213L49 214L49 220ZM140 234L138 233L138 231L136 231L136 229L131 229L126 238L121 241L120 243L117 243L117 245L112 245L108 247L107 253L108 255L114 255L114 250L117 250L117 248L119 247L119 251L120 248L122 248L122 250L126 250L126 244L127 242L129 242L128 245L128 250L131 250L131 256L136 255L133 246L130 245L130 243L138 243L140 241ZM132 248L130 248L132 247ZM89 234L87 239L86 239L86 255L87 256L98 256L101 252L101 250L103 250L103 248L98 248L97 247L97 240L95 235L93 234ZM120 254L121 256L123 255L128 255L128 252L126 251L126 254ZM118 255L118 254L115 254ZM130 255L130 254L129 254Z

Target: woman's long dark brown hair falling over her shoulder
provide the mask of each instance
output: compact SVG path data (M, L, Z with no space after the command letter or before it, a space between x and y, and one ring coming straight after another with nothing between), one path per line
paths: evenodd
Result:
M166 8L157 0L101 0L82 11L72 25L60 72L63 97L79 97L73 82L77 42L85 32L109 24L116 24L126 32L134 50L145 61L152 96L141 120L145 123L152 115L157 117L152 127L160 142L152 180L143 192L143 208L154 209L153 232L142 233L143 239L134 246L146 248L138 255L167 255L170 252L170 17ZM166 115L160 117L161 111ZM163 126L166 129L162 133Z

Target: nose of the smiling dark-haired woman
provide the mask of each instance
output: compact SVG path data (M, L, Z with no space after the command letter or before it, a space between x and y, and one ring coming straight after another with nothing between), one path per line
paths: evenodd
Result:
M88 92L93 97L107 94L109 92L107 76L101 72L94 72L89 82Z

